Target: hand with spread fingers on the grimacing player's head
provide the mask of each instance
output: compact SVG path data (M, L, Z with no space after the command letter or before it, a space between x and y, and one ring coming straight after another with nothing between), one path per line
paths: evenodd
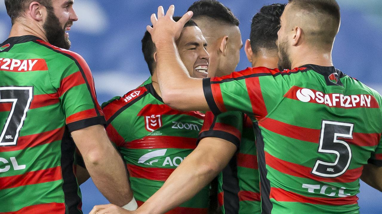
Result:
M168 41L168 39L177 40L180 37L183 26L185 26L186 22L188 22L193 15L192 11L189 11L184 14L179 21L175 22L172 19L174 10L175 6L171 5L165 15L163 7L159 6L158 18L155 13L151 15L151 23L153 27L147 26L146 29L151 34L152 42L155 44L160 41Z

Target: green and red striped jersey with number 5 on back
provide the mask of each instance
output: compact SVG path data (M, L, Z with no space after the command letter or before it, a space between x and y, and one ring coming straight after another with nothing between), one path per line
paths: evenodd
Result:
M382 166L379 93L318 65L248 68L203 86L215 114L254 121L264 213L359 213L363 165Z

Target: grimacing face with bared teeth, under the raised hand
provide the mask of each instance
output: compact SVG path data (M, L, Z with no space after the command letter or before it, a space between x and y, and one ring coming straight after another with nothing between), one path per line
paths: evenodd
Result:
M176 40L181 60L193 78L206 78L210 56L206 51L207 42L199 27L183 28L180 37Z

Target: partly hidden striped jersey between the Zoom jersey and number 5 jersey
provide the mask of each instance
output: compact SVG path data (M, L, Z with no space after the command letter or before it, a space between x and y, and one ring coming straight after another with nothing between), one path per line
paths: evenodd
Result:
M217 137L238 150L218 176L218 202L223 214L260 214L260 180L251 119L241 112L215 116L207 112L199 140Z

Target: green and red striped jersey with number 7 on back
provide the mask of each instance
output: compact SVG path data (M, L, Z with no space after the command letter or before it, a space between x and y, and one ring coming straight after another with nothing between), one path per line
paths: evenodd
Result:
M0 46L0 213L81 214L70 132L105 124L90 69L32 35Z

